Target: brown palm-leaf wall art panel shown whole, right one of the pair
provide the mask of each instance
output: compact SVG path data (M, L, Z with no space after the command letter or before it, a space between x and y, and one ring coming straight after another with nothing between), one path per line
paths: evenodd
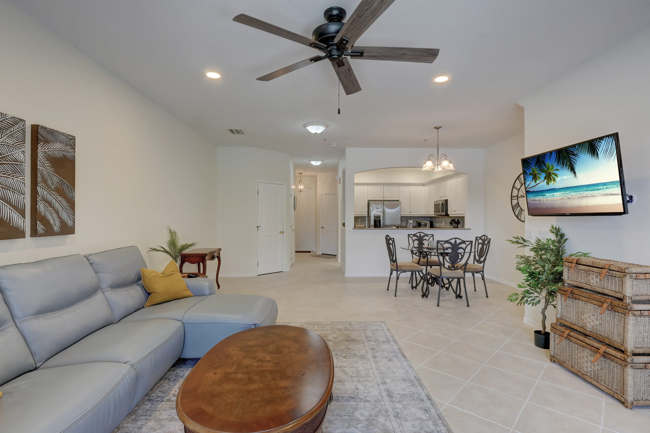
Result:
M75 138L32 125L32 237L75 232Z

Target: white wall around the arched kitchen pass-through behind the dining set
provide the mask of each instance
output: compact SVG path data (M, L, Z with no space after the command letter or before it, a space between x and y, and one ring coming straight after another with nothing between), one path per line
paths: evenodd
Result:
M443 150L441 149L441 153ZM454 166L467 173L467 213L465 227L470 230L435 230L436 240L454 237L474 240L484 234L484 166L483 149L445 149ZM354 173L387 167L417 167L424 164L430 149L345 149L345 252L346 277L389 274L389 260L384 236L390 234L398 247L398 260L410 261L411 254L399 249L406 245L406 230L354 230Z

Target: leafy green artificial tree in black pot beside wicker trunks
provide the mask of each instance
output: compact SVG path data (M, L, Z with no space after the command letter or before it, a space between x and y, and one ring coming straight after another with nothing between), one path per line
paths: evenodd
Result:
M546 330L546 310L549 306L555 308L558 289L562 287L562 269L564 262L562 258L566 255L567 238L560 227L551 225L551 238L541 240L536 238L530 241L521 236L513 236L508 242L517 245L517 248L527 248L530 255L517 255L517 266L515 269L523 273L524 280L517 284L521 293L512 293L508 301L516 302L517 305L541 307L541 330L536 330L535 345L543 349L549 349L551 333ZM588 253L573 253L570 257L588 257Z

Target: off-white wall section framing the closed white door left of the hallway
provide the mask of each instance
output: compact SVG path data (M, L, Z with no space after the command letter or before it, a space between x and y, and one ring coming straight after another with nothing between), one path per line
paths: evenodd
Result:
M293 244L292 160L286 153L255 147L217 147L217 243L222 248L224 277L257 275L257 181L282 182L285 188L285 271L291 267Z

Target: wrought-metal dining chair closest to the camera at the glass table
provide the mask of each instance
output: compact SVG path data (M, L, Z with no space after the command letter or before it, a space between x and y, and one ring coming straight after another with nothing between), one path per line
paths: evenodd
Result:
M446 241L437 241L437 258L438 266L430 267L428 273L437 277L438 280L438 303L440 306L440 291L443 287L443 279L447 280L448 286L456 295L456 299L462 298L460 292L460 280L463 280L463 288L465 289L465 302L469 306L469 299L467 298L467 284L465 284L465 271L467 271L467 263L472 256L473 241L465 241L461 238L451 238ZM452 285L452 281L456 280L456 288Z

